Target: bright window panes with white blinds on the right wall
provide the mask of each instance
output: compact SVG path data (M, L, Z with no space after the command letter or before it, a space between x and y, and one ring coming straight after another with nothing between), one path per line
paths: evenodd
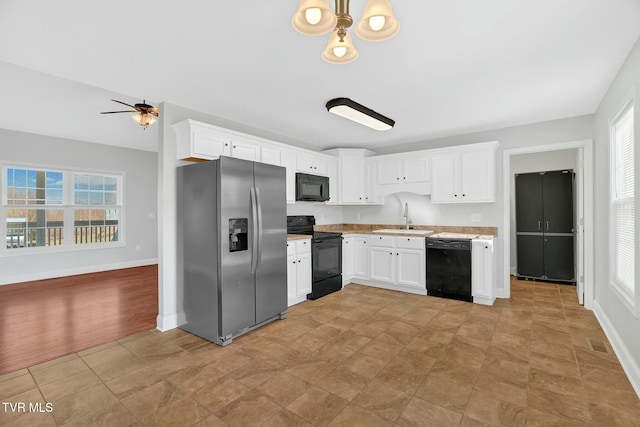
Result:
M624 108L611 125L612 284L632 307L635 297L634 108Z

